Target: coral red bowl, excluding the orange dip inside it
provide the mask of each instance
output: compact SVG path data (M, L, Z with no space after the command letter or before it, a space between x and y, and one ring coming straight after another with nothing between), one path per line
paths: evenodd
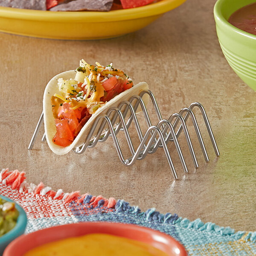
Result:
M111 222L80 222L50 227L22 235L6 247L3 256L23 256L27 251L40 245L90 233L121 236L150 244L169 256L187 256L184 247L171 236L137 225Z

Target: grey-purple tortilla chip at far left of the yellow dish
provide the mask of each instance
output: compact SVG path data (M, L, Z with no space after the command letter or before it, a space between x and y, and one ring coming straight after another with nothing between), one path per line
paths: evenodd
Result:
M0 6L46 11L46 0L0 0Z

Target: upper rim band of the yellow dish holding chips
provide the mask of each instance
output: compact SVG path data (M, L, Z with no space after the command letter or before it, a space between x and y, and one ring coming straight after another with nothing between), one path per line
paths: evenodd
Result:
M161 0L146 6L131 9L112 10L110 12L50 12L41 10L17 9L0 7L0 17L13 17L22 20L58 21L58 23L93 22L116 20L134 20L149 16L160 15L183 4L186 0Z

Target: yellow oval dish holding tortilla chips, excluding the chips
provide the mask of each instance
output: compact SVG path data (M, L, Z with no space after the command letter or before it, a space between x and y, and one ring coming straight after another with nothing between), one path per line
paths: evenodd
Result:
M162 0L110 12L49 12L0 7L0 31L68 40L113 38L142 29L186 0Z

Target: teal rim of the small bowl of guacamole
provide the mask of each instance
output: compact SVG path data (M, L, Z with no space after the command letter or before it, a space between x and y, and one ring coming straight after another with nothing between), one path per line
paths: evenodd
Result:
M19 216L18 216L17 223L16 223L15 227L0 237L0 243L5 243L7 241L14 239L17 236L17 233L20 232L20 230L23 230L23 229L25 230L26 224L27 224L27 216L26 216L26 212L23 210L23 208L20 207L15 201L13 201L12 199L7 198L3 195L0 195L0 197L3 198L3 200L15 203L15 208L19 212Z

